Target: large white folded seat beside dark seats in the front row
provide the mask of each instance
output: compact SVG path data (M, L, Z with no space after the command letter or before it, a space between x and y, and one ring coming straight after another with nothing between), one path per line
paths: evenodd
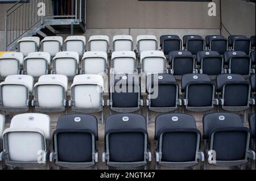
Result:
M10 128L3 132L6 165L13 167L46 166L49 158L51 120L41 113L24 113L11 120Z

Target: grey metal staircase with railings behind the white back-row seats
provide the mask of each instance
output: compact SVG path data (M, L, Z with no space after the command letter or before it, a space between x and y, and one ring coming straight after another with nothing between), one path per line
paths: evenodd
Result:
M53 1L20 0L6 11L6 51L16 50L18 40L26 36L43 39L57 33L85 32L86 0Z

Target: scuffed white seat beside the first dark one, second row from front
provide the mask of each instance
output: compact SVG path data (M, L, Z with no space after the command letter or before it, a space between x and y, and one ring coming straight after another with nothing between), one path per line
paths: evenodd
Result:
M71 100L69 106L72 110L82 113L102 112L103 121L103 91L104 79L101 75L77 75L71 86Z

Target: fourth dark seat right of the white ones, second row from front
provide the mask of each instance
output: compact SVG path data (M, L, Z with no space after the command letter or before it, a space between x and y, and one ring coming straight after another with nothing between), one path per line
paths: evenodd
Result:
M250 99L251 85L239 74L222 74L216 78L220 105L225 111L244 111L255 104Z

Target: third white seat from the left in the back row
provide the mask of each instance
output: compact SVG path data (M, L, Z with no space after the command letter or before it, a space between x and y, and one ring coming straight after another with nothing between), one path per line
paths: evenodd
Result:
M77 52L81 57L85 52L85 36L68 36L64 41L64 51Z

